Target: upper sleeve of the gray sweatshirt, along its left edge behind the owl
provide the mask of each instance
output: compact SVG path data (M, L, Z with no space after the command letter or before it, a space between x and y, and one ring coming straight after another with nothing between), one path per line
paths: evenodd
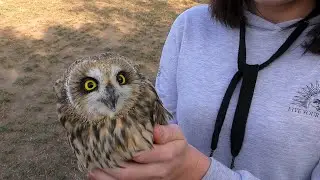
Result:
M174 119L170 123L178 124L176 118L177 108L177 66L182 39L183 14L173 23L163 46L157 73L155 88L163 105L172 113Z

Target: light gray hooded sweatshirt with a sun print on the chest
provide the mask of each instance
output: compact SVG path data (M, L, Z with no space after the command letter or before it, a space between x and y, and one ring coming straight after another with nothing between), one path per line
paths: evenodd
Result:
M207 5L182 13L173 23L161 56L156 89L189 144L209 156L215 119L236 73L239 29L211 17ZM300 19L271 23L246 12L247 63L261 64L282 45ZM245 137L229 168L230 129L238 84L218 148L205 180L320 180L320 56L305 53L306 33L270 66L259 71Z

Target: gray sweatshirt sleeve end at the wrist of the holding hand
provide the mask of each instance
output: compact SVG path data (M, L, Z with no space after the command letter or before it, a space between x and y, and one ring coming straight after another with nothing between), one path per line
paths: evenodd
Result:
M233 171L212 157L210 160L211 164L202 180L259 180L248 171Z

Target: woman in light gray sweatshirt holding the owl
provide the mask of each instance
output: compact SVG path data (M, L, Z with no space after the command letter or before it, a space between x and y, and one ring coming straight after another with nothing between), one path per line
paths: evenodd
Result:
M216 0L182 13L156 82L178 126L156 127L135 163L89 177L320 179L319 5Z

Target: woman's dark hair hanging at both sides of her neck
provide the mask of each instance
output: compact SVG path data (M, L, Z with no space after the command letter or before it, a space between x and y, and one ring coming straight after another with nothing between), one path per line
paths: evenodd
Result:
M320 6L319 1L316 1L317 7ZM254 8L253 0L211 0L210 3L212 17L231 28L238 28L240 22L245 20L245 7ZM320 23L308 32L307 37L308 40L303 44L306 52L320 54Z

